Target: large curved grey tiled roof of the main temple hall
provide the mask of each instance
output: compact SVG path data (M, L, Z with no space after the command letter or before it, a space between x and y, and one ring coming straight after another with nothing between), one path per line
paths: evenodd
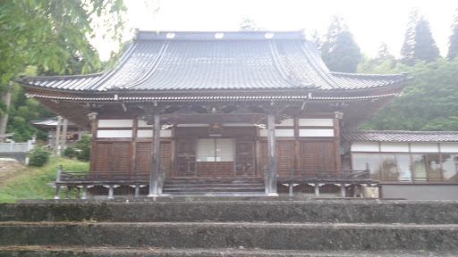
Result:
M330 72L313 43L303 39L301 31L140 31L112 70L79 76L22 77L21 84L84 91L170 92L352 90L398 85L407 80L406 74Z

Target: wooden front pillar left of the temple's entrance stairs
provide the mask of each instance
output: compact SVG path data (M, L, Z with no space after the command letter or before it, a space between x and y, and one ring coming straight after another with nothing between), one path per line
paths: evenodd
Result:
M149 194L148 197L158 196L157 178L159 177L159 147L161 142L161 123L159 113L154 114L153 142L151 144L151 170L149 172Z

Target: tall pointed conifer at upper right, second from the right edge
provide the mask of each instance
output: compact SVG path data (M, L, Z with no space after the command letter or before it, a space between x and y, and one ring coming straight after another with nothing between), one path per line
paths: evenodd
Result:
M431 34L429 22L420 15L417 8L413 9L401 48L401 61L411 66L417 60L432 62L439 56L439 48Z

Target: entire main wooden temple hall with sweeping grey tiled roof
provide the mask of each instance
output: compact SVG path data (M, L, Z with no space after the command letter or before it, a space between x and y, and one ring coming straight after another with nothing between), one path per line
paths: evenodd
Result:
M341 130L383 108L408 80L329 71L302 31L138 31L111 70L19 82L91 129L89 174L56 185L106 186L113 197L115 186L199 194L216 180L254 183L231 187L239 195L277 195L284 184L291 193L293 181L317 195L322 182L339 185L340 195L377 184L365 169L342 169ZM200 186L183 186L190 181ZM253 189L257 181L265 188Z

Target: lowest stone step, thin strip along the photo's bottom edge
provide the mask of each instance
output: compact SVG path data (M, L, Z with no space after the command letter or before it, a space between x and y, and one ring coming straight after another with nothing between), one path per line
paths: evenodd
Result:
M165 249L154 247L114 248L114 247L52 247L52 246L8 246L0 247L0 256L4 257L56 257L56 256L305 256L305 257L455 257L456 253L424 251L307 251L307 250L262 250L262 249Z

